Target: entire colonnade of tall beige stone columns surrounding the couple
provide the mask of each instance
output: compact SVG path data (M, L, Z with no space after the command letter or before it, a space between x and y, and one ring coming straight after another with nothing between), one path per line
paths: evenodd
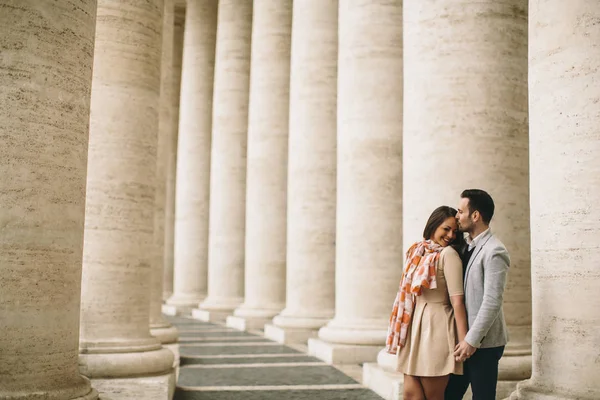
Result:
M500 393L600 396L595 1L0 6L0 397L167 398L161 299L375 361L467 187L512 259Z

